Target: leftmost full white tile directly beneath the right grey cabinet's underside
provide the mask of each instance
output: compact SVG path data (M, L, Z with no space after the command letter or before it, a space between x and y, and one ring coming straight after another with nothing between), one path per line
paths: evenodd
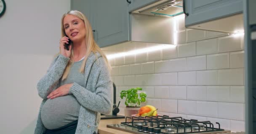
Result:
M187 42L200 41L206 39L206 31L197 29L187 29Z

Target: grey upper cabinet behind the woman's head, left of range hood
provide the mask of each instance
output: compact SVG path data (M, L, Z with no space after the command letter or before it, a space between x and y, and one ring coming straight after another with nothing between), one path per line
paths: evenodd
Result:
M94 39L100 47L129 40L129 13L126 0L71 0L71 9L90 20Z

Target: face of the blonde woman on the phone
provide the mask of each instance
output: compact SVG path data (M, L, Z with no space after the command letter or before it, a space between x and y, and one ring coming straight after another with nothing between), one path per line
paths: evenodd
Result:
M63 27L66 35L73 42L85 39L85 23L75 15L66 15L63 19Z

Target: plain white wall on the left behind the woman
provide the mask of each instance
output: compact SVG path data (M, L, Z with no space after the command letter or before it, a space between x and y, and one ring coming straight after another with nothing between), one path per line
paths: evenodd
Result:
M36 84L58 53L70 0L5 0L0 18L0 133L33 134L41 103Z

